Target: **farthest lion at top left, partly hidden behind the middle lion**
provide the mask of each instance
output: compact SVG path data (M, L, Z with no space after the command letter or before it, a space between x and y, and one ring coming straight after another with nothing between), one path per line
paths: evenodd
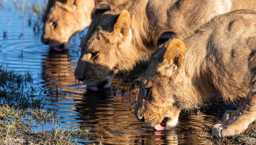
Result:
M93 7L101 2L109 3L111 8L125 0L49 0L43 15L42 43L50 49L67 49L71 36L91 24Z

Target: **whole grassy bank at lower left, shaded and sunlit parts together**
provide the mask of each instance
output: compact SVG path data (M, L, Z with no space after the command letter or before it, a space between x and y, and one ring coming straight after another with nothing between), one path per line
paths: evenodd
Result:
M44 108L31 83L29 73L20 75L0 67L0 144L77 144L76 139L92 135L91 129L81 126L61 128L58 113ZM34 130L46 124L51 130Z

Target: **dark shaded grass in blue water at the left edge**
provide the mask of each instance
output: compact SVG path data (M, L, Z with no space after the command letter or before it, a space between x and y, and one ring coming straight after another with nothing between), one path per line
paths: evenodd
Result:
M29 72L16 74L0 67L0 101L17 108L40 108L42 99L36 98L36 88Z

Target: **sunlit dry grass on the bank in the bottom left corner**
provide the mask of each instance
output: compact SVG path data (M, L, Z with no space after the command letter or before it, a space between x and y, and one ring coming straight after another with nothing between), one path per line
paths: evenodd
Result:
M40 113L38 113L40 111ZM54 122L59 116L51 111L39 109L17 109L7 105L0 108L0 144L76 144L74 138L87 138L89 129L75 126L71 130L62 129ZM52 123L51 131L36 132L33 127L36 123Z

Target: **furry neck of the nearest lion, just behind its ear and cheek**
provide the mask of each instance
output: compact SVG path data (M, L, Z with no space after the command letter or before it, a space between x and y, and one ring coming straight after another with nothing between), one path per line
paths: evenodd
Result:
M174 84L177 85L172 88L172 90L175 90L174 94L179 96L180 104L185 109L197 107L211 100L213 94L218 92L211 81L209 81L212 76L205 59L208 37L202 36L200 43L198 43L196 38L191 36L184 41L186 44L184 65L182 71L176 77L177 82Z

